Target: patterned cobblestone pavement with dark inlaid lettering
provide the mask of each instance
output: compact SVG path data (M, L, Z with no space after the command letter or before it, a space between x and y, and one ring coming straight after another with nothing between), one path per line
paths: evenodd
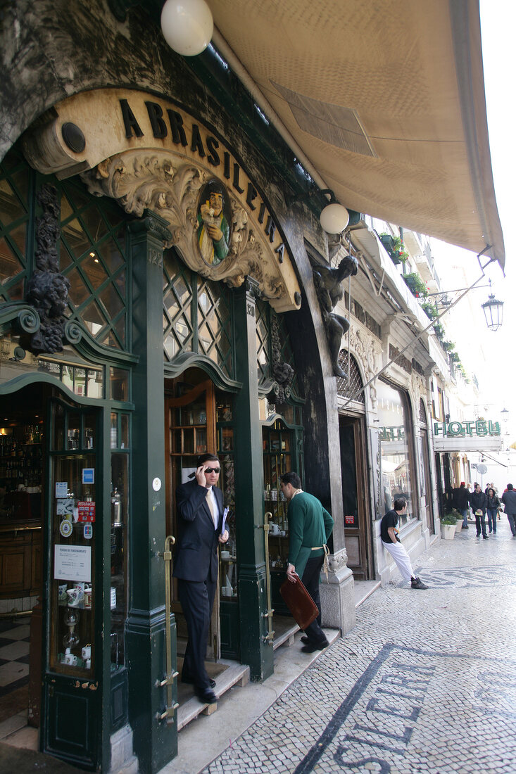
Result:
M516 539L502 519L496 537L470 527L419 557L428 591L375 591L204 774L516 772Z

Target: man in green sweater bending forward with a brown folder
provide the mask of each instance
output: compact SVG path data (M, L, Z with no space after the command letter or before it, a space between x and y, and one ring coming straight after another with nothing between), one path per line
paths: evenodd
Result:
M313 653L329 645L321 628L319 576L325 559L324 547L332 534L333 519L314 495L308 495L301 489L301 478L297 473L281 476L281 491L288 500L287 578L291 583L301 578L319 611L318 617L301 637L301 642L304 642L301 650Z

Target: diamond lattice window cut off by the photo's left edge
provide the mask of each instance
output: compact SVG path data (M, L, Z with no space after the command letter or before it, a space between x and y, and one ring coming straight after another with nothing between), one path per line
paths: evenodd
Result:
M30 174L16 152L0 164L0 302L23 300Z

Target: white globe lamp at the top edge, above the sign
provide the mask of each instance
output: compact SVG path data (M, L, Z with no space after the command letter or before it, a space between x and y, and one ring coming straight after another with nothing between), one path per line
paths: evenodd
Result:
M212 39L212 12L205 0L167 0L161 30L171 49L183 57L195 57Z

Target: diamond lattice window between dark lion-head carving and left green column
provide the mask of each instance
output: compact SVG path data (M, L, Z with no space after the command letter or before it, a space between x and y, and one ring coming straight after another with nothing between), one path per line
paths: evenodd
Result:
M108 347L126 349L129 299L126 224L120 207L62 184L60 270L70 281L68 316Z

